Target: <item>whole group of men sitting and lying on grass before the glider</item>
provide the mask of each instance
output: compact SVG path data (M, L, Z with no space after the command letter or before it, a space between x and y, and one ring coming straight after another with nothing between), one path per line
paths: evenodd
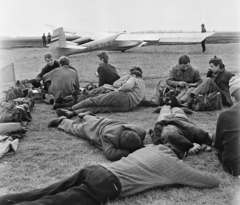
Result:
M49 55L51 54L46 56ZM104 84L114 87L117 82L116 89L74 102L70 110L57 109L59 117L52 119L48 126L88 140L102 149L108 160L115 162L87 166L46 188L0 196L0 204L92 205L174 184L197 188L219 186L219 180L215 176L193 169L183 162L194 143L215 147L224 170L233 176L240 175L240 78L226 71L221 59L214 57L209 61L210 70L207 78L202 81L199 71L190 64L189 57L183 55L179 58L179 63L170 70L167 85L187 88L187 92L185 89L178 96L171 96L171 106L164 105L161 108L154 129L149 131L153 144L144 145L146 131L141 126L94 115L97 112L129 111L137 106L145 96L142 70L134 67L129 75L119 78L116 69L108 64L107 52L100 52L98 57L100 90L106 89ZM49 93L58 93L55 96L56 102L60 97L76 93L79 83L76 82L77 71L69 66L67 57L61 57L60 68L52 70L55 60L52 55L49 58L51 59L45 60L52 64L48 64L38 75L40 77L32 82L36 86L41 79L43 83L50 82L44 85ZM63 79L60 74L64 71L59 71L61 69L66 69L71 77ZM112 72L112 75L108 75L108 72ZM109 76L114 76L116 81L109 80ZM45 79L50 80L44 81ZM65 84L70 87L69 90L55 90L60 89L60 84L67 79L72 82ZM53 80L59 85L52 84ZM216 90L221 93L223 104L231 107L219 115L216 133L210 136L191 122L179 106L190 104L194 95ZM237 101L235 105L231 97ZM76 96L73 95L73 98ZM78 121L69 119L75 115L78 116Z

